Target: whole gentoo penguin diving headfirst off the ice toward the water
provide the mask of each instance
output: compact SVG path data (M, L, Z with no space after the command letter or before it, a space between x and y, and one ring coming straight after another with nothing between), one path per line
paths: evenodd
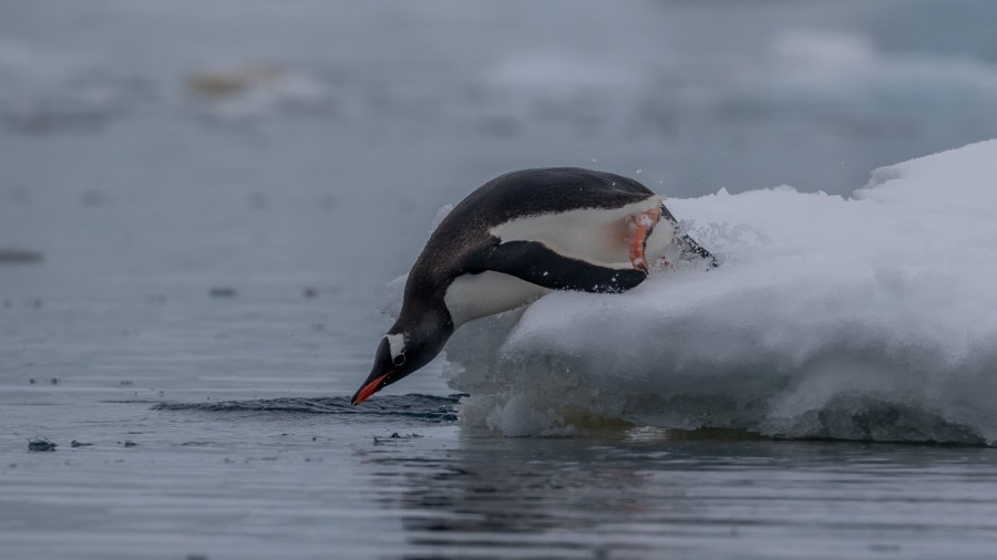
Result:
M681 259L717 265L679 230L661 198L634 179L575 167L492 179L430 236L409 272L398 321L351 402L429 363L467 321L549 290L627 291L647 278L648 259L672 246Z

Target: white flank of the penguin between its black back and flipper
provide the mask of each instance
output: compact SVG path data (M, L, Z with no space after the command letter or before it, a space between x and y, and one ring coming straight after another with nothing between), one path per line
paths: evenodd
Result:
M520 218L493 228L491 234L503 242L539 241L565 257L604 267L629 268L627 218L660 205L661 197L652 195L620 208L589 208ZM666 225L659 222L662 231L655 228L651 239L648 239L649 246L652 240L655 246L671 242L672 231Z

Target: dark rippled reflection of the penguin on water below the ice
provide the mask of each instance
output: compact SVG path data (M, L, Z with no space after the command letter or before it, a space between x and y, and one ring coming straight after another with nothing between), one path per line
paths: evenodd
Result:
M648 508L639 497L646 495L650 475L631 465L600 464L600 449L590 447L592 442L545 442L557 449L553 454L537 454L527 440L472 436L463 443L471 449L462 447L446 459L377 460L405 473L400 500L382 500L386 507L402 508L413 546L471 554L522 549L561 557L588 551L602 558L608 558L608 550L630 551L628 556L647 550L645 543L626 542L605 526L610 520L626 525ZM564 453L571 455L554 456Z

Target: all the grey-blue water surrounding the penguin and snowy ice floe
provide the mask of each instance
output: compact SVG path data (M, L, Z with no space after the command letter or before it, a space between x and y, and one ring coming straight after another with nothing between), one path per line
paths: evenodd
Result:
M502 438L439 364L347 398L443 204L533 165L849 193L995 135L994 15L3 2L0 557L990 558L987 447Z

